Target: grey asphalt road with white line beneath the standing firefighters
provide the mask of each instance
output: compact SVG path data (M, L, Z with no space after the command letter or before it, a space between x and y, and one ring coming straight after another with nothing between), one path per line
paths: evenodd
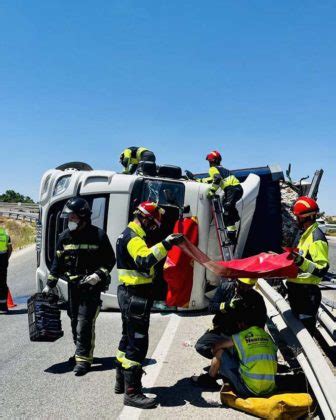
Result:
M113 355L121 333L118 312L99 315L92 371L75 377L66 363L74 345L65 311L63 338L55 343L29 340L25 302L35 292L35 269L31 247L11 258L8 284L18 306L10 315L0 315L0 418L250 418L223 408L218 392L202 392L190 384L189 378L208 364L193 346L210 325L211 316L152 315L143 382L146 392L158 396L160 406L155 410L124 409L122 396L113 393Z

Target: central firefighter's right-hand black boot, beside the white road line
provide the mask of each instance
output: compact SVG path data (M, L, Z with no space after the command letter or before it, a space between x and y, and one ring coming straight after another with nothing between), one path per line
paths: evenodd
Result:
M124 370L125 395L124 405L137 408L155 408L157 401L155 398L148 398L142 393L141 377L142 367L133 366Z

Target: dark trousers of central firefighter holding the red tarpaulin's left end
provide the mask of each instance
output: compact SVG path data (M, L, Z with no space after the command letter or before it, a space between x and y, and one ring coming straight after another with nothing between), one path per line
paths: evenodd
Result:
M148 329L153 300L143 286L118 286L122 335L119 351L125 353L123 367L142 364L148 350ZM135 363L134 363L135 362Z

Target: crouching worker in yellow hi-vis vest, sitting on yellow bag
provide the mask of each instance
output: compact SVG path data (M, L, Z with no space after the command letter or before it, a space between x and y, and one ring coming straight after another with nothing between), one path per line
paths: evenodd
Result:
M210 374L225 377L240 398L269 396L276 389L277 348L243 303L236 317L241 330L213 346Z

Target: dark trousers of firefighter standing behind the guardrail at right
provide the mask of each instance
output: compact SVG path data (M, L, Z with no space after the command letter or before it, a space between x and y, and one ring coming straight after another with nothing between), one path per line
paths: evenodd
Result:
M312 334L315 331L318 308L321 303L321 290L315 284L287 282L288 301L294 315Z

